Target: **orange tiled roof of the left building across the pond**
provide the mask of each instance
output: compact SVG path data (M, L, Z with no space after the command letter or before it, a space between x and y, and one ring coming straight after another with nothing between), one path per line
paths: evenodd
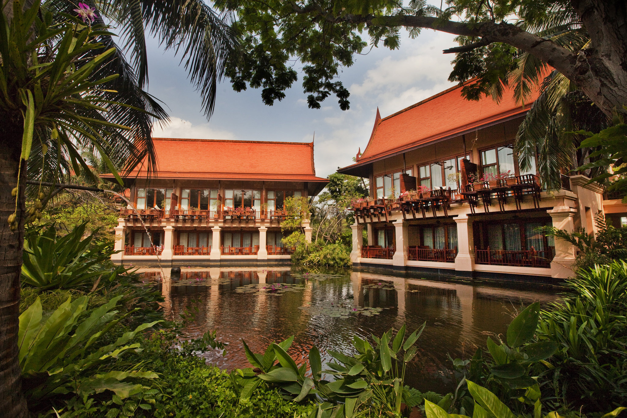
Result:
M328 181L315 175L313 142L181 138L152 141L157 154L157 178ZM145 170L135 170L127 177L145 175Z

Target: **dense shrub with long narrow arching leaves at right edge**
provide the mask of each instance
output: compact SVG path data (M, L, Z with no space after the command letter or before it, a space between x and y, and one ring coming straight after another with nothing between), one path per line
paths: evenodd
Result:
M613 261L567 281L571 293L542 311L537 338L559 343L547 371L563 406L608 410L627 404L627 263Z

